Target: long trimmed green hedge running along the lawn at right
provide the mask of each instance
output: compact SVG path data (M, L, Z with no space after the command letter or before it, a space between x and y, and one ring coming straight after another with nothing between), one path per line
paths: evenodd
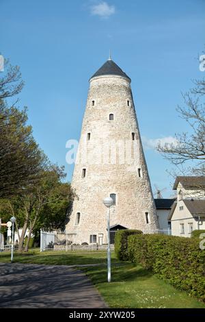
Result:
M128 236L127 258L205 301L205 251L197 238L159 234Z

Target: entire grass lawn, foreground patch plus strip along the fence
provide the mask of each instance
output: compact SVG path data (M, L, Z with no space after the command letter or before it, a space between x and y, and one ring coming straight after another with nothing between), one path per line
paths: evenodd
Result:
M107 267L80 267L90 277L110 308L205 308L205 304L159 280L146 269L112 257L112 282L107 283ZM10 253L0 253L0 262L10 262ZM106 252L68 253L31 250L14 253L14 262L25 264L81 265L106 264ZM118 265L120 263L120 265Z

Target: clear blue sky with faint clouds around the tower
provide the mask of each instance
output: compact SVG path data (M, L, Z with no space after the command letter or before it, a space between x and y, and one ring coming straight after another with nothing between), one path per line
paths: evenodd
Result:
M107 60L131 77L152 184L172 193L171 169L153 140L189 128L176 113L181 92L200 78L204 0L0 0L0 52L20 66L20 106L52 162L66 164L66 141L79 139L88 79Z

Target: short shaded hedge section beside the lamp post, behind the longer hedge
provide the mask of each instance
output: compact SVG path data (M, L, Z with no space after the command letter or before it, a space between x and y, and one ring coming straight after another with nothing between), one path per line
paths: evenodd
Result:
M115 234L115 254L119 260L128 260L127 238L130 235L142 234L141 230L118 230Z

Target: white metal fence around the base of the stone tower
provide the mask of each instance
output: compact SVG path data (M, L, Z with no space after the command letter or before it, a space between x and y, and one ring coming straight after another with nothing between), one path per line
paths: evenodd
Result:
M110 232L111 251L114 250L116 230ZM143 231L144 234L171 235L171 230ZM81 243L77 234L65 232L40 232L40 251L106 251L106 243Z

